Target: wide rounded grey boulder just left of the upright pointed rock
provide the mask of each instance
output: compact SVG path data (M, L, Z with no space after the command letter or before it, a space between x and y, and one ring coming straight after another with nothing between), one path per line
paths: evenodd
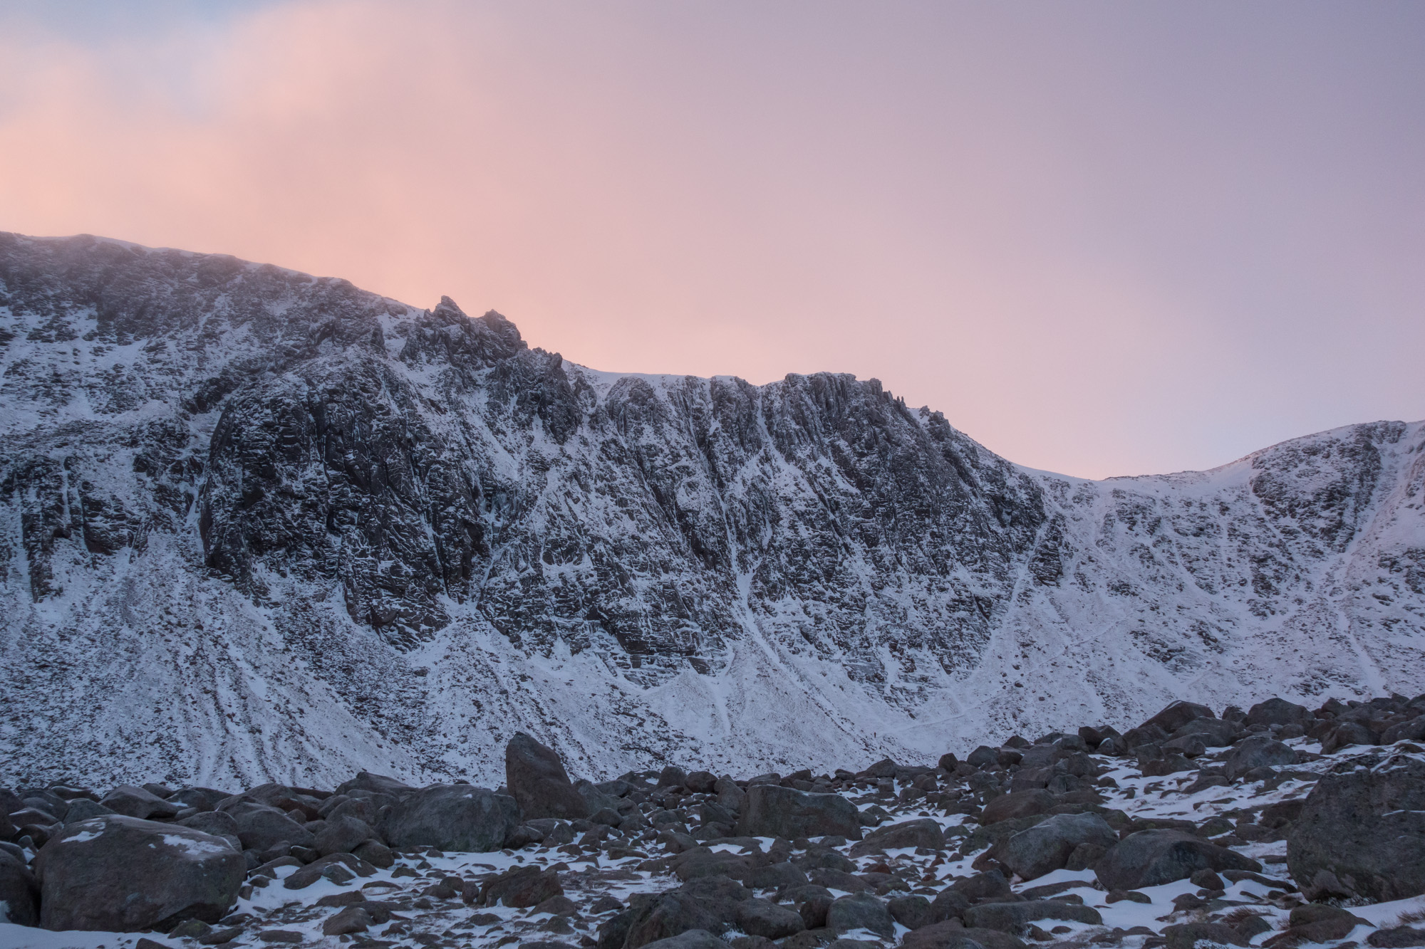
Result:
M514 798L469 784L436 784L392 807L380 832L395 848L487 852L504 846L519 825Z

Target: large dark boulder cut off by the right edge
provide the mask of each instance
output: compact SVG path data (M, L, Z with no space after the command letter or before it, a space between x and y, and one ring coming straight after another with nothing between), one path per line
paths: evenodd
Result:
M1425 761L1322 775L1287 832L1287 868L1310 898L1425 893Z

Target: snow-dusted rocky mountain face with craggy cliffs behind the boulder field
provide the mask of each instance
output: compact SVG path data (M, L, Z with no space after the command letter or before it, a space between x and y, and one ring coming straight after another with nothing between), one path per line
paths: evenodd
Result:
M1425 423L1019 467L876 380L618 376L499 313L0 234L0 774L499 782L1425 691ZM1030 738L1035 735L1030 734Z

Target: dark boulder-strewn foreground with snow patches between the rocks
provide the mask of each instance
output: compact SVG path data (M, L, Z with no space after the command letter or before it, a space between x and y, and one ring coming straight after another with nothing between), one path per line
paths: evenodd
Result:
M0 789L0 946L1419 946L1421 741L1425 695L1178 701L935 767Z

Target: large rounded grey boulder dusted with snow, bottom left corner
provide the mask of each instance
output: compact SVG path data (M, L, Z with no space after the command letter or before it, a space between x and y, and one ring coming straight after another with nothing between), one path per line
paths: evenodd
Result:
M215 923L247 875L242 854L221 838L124 815L66 826L34 868L40 925L117 932Z

